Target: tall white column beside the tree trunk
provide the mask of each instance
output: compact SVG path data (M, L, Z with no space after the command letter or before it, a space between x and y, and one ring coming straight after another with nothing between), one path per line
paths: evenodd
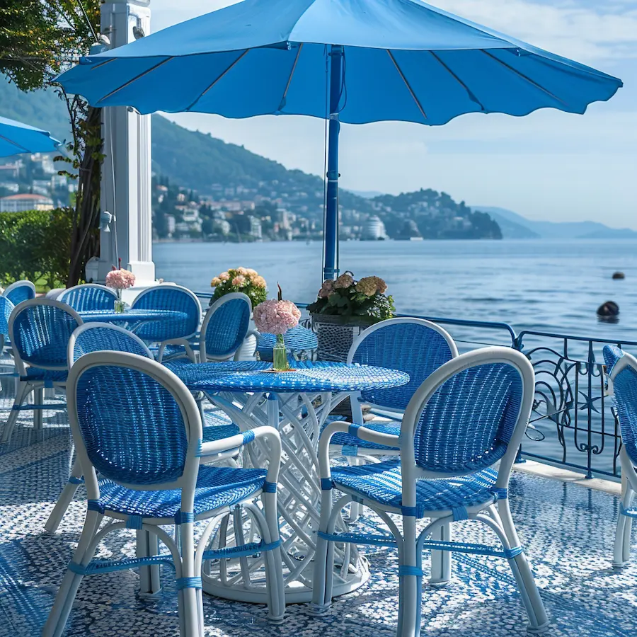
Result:
M107 0L101 8L101 33L111 48L150 32L150 0ZM113 214L110 232L101 230L98 280L103 281L117 257L132 270L137 286L155 280L152 257L151 122L125 106L103 109L105 159L101 210ZM136 286L136 287L137 287Z

